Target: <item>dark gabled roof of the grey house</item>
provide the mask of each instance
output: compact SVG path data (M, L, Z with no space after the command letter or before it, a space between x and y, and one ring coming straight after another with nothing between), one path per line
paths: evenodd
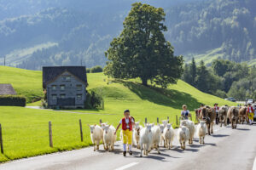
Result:
M43 88L46 88L49 82L59 77L63 72L68 71L73 76L79 78L81 82L87 84L85 66L44 66L43 67Z

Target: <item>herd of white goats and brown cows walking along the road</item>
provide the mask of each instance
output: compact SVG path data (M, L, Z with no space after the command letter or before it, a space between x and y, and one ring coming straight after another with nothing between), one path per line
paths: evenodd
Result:
M218 111L218 119L220 127L224 123L227 125L228 120L231 122L232 128L236 128L236 123L247 121L247 107L222 106ZM207 134L213 133L213 124L216 120L216 112L214 108L205 106L195 110L195 115L198 125L195 127L194 122L190 120L181 120L180 126L175 133L172 124L168 121L162 121L162 124L155 125L154 123L144 123L144 127L139 122L135 122L133 127L133 145L137 144L137 149L141 150L140 156L148 156L148 152L156 149L160 153L159 146L171 149L172 141L175 136L180 143L181 149L185 150L186 143L193 144L195 133L199 137L200 144L204 144L204 139ZM107 123L100 125L90 125L90 138L94 144L94 151L99 150L99 144L102 141L104 150L113 150L114 143L117 139L115 127ZM122 131L120 133L122 138Z

